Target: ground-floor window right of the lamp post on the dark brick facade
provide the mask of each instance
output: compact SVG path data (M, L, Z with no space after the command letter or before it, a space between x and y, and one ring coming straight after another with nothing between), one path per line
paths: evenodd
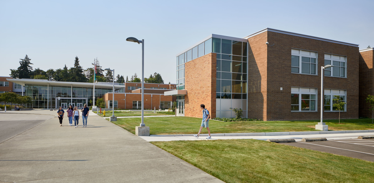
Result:
M346 96L347 96L346 90L325 89L324 111L338 111L337 108L332 106L334 104L334 101L332 101L335 98L334 95L338 95L340 97L340 100L342 100L343 102L346 102ZM347 111L346 106L344 106L343 111Z

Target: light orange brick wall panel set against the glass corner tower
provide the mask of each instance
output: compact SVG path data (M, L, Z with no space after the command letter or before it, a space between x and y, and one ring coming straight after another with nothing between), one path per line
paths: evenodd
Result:
M200 104L204 104L215 117L216 58L217 54L209 53L185 63L185 116L202 118Z

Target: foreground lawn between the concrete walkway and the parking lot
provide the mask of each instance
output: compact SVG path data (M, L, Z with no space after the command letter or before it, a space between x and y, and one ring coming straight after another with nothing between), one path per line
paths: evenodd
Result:
M151 143L226 183L374 182L372 162L273 142L235 139Z

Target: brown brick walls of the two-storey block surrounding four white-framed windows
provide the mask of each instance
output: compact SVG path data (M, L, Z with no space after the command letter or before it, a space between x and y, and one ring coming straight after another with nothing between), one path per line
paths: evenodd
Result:
M261 97L263 97L263 105L266 107L266 109L263 109L265 114L263 116L264 120L320 119L321 66L324 65L324 54L330 53L347 56L347 78L325 76L324 88L347 90L347 112L341 113L340 117L358 118L358 47L269 31L248 38L248 41L250 48L249 59L251 59L249 62L255 61L255 63L249 63L249 91L258 91L261 88L262 93L262 96L260 94L254 95L254 92L249 93L248 117L261 116L261 109L259 111L255 107L256 105L259 108L262 107ZM265 44L266 41L270 45L274 44L274 46L267 46ZM317 76L291 73L291 48L318 52ZM267 51L265 52L264 50ZM264 63L264 60L267 60L267 63ZM255 76L253 79L252 74ZM260 84L259 81L261 81ZM264 86L266 87L266 91L264 91ZM318 112L291 113L290 95L292 86L318 88L318 104L316 105ZM280 90L281 87L283 88L282 91ZM337 112L325 112L324 119L337 119L338 115L339 113Z

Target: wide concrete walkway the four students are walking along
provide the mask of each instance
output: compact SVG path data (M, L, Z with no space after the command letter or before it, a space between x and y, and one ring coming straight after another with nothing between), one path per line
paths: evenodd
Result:
M82 118L62 124L55 117L1 143L0 182L222 182L96 114L85 128Z

